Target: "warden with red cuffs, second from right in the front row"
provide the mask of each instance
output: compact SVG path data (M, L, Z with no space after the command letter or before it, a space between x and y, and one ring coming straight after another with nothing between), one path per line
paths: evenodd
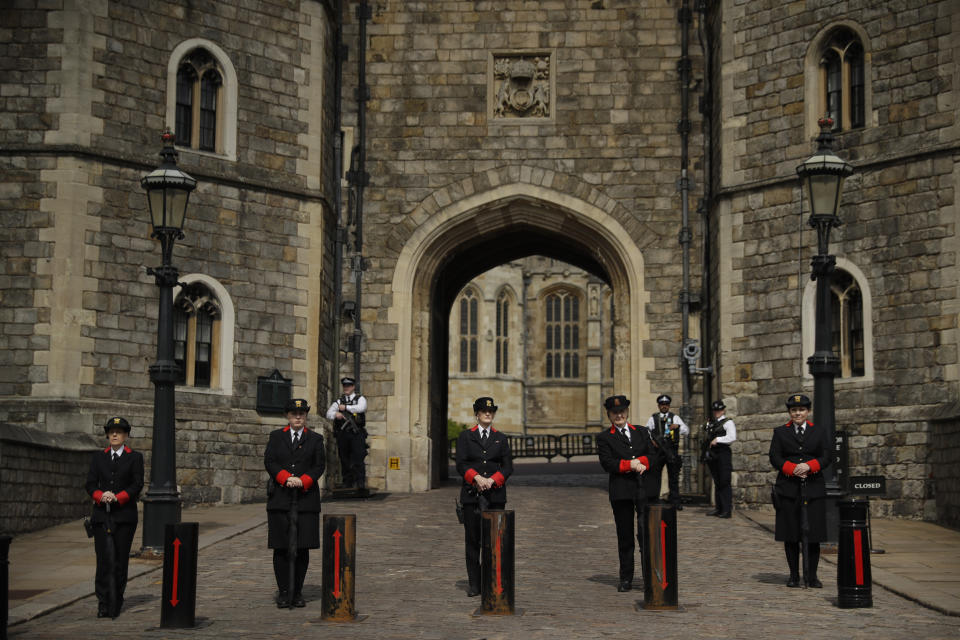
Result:
M652 454L650 432L627 422L626 396L610 396L603 403L610 428L597 436L600 465L610 474L608 491L613 520L617 525L617 552L620 557L620 581L617 591L633 588L633 524L637 523L637 542L643 550L643 509L646 494L644 472Z

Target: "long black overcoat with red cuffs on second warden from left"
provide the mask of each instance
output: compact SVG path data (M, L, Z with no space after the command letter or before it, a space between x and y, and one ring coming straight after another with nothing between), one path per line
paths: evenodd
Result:
M304 427L297 448L293 448L290 425L270 434L263 464L270 474L267 488L267 544L271 549L286 549L289 546L287 517L297 491L297 539L301 549L316 549L320 546L320 476L323 475L326 456L323 451L323 436ZM297 476L303 481L302 489L284 486L287 478Z

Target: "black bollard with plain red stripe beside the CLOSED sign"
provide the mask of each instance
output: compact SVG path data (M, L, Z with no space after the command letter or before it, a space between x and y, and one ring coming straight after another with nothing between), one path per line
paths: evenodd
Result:
M837 503L840 539L837 545L837 606L872 607L870 576L870 499L850 498Z

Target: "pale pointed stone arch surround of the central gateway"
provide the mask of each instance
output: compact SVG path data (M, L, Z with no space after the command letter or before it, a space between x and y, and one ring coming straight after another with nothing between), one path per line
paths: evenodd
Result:
M651 393L653 359L642 351L649 337L643 254L621 221L635 223L636 237L655 237L590 185L521 168L487 172L435 192L398 225L403 248L387 309L397 335L384 455L401 464L385 471L387 490L425 491L440 480L447 465L450 307L470 279L509 260L540 254L604 278L614 296L614 388L631 397Z

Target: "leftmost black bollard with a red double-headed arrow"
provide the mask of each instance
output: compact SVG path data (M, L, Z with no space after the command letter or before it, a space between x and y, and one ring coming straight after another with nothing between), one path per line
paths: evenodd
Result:
M188 629L196 624L197 539L200 524L168 524L163 535L163 591L160 626Z

